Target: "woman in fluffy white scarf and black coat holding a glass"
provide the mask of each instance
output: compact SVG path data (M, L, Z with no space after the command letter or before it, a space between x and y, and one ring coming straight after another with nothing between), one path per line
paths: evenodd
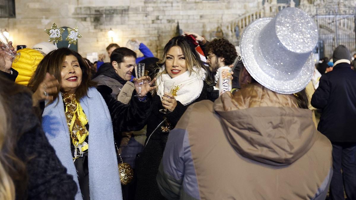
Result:
M209 99L208 85L213 77L195 51L195 40L191 36L172 38L164 47L163 64L157 74L157 90L153 95L152 112L147 121L146 146L136 163L137 188L135 199L164 199L156 176L161 162L169 130L176 126L188 106L194 102ZM210 74L210 73L209 73ZM175 91L164 93L164 81L174 81ZM159 112L168 109L169 114Z

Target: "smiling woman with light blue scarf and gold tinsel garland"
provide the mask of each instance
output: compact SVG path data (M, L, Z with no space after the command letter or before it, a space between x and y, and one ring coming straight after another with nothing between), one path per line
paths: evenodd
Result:
M59 94L51 94L49 88L52 86L41 82L48 77L46 73L58 80L56 91L61 91ZM43 88L47 96L42 127L56 156L77 183L75 199L120 200L121 183L113 133L143 127L152 101L148 91L155 87L145 81L141 93L148 93L147 99L133 97L130 104L122 104L110 95L111 92L100 94L89 78L89 67L82 56L61 48L43 58L29 85L33 91Z

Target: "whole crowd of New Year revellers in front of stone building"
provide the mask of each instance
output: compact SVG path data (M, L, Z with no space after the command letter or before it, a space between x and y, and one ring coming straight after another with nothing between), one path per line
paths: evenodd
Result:
M316 29L297 8L255 20L239 61L194 32L108 63L0 44L0 199L356 199L356 72L343 45L314 64Z

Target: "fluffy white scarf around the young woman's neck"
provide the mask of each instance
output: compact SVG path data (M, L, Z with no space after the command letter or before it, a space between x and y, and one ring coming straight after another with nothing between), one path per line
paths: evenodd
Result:
M164 69L165 67L163 66L161 71ZM179 85L179 90L177 91L177 96L175 97L176 100L183 105L188 105L200 96L201 90L203 90L205 76L205 70L203 68L198 69L197 67L193 67L192 73L187 70L183 74L180 74L174 78L167 73L161 74L156 80L157 95L162 98L164 81L174 81L174 86Z

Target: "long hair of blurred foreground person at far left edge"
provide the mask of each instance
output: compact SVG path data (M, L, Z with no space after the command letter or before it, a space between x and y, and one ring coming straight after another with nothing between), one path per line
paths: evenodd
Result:
M21 132L13 132L15 130L12 119L14 113L11 112L11 98L12 95L18 93L27 93L31 96L30 91L25 86L17 85L4 77L0 76L0 163L5 170L6 174L2 174L1 179L4 176L9 175L11 181L8 180L7 184L16 185L16 198L26 199L27 191L27 170L25 163L16 156L15 148L20 137L23 135ZM21 117L21 116L16 116ZM5 124L4 124L5 123ZM5 184L2 181L2 184Z

